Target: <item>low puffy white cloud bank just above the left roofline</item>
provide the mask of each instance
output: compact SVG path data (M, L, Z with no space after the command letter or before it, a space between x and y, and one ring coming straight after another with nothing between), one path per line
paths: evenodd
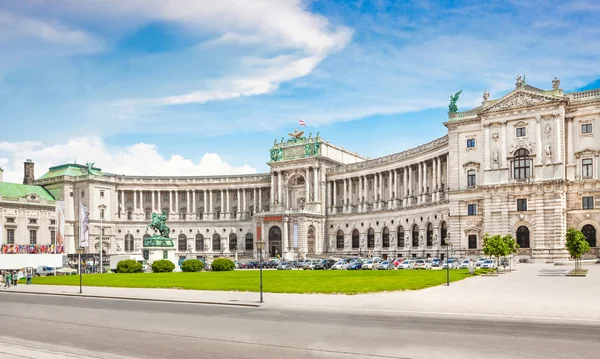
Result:
M0 166L4 181L21 182L23 162L35 162L36 177L48 168L64 163L94 161L105 172L145 176L202 176L256 173L248 165L233 167L216 153L206 153L199 160L175 154L168 158L158 153L155 145L138 143L109 149L98 137L79 137L64 144L44 145L39 142L0 142Z

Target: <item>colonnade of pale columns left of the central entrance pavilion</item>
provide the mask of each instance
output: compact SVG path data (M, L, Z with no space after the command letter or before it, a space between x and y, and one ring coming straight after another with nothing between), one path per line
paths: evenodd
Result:
M135 190L135 189L121 189L118 190L119 193L119 207L121 209L124 209L124 204L125 204L125 192L132 192L133 193L133 213L141 213L144 212L143 209L149 209L152 212L160 212L163 209L161 208L161 204L164 202L164 200L162 199L163 195L168 194L168 202L169 202L169 207L168 207L168 211L171 214L175 214L175 213L181 213L182 209L185 209L186 213L189 214L196 214L196 211L198 210L197 208L197 203L196 200L198 198L198 194L202 193L202 199L203 199L203 218L206 219L214 219L214 193L220 193L221 195L221 213L224 214L223 217L221 217L220 219L234 219L234 217L231 216L232 214L232 207L231 207L231 202L230 202L230 198L232 193L237 193L237 203L238 203L238 210L237 210L237 216L235 216L235 219L242 219L242 215L245 215L246 212L248 212L248 207L249 207L249 201L247 200L247 193L248 190L252 191L252 206L254 208L254 211L256 212L261 212L263 211L263 205L262 205L262 188L260 187L254 187L251 189L246 189L246 188L238 188L238 189L204 189L204 190L185 190L185 191L181 191L181 190ZM148 192L150 192L151 198L151 207L150 208L143 208L143 203L144 198L143 195L147 194ZM185 196L181 196L182 194L185 194ZM185 201L185 208L182 208L182 206L180 206L179 201L183 200ZM183 205L183 203L182 203Z

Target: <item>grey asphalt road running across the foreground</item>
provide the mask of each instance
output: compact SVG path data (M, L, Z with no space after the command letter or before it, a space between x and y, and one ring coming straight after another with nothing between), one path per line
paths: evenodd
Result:
M15 355L14 346L21 343L25 349ZM9 349L13 354L8 354ZM40 351L32 355L25 350ZM50 358L52 351L59 350L71 358L598 358L600 326L172 304L0 290L0 358Z

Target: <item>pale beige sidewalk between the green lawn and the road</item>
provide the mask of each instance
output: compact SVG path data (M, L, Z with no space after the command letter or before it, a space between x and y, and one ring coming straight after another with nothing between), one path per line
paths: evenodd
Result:
M86 296L161 300L221 305L312 310L361 311L389 314L476 316L531 320L580 321L600 325L600 266L586 266L586 278L541 276L551 264L520 264L497 277L474 277L420 291L360 295L276 294L84 287ZM19 285L9 291L79 296L79 287ZM3 290L0 290L0 294Z

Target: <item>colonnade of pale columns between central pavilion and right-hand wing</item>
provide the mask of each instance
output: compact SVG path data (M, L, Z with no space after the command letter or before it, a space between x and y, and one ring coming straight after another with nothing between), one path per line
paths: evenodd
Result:
M437 202L440 200L442 185L446 183L444 176L447 175L447 169L442 169L443 156L434 157L427 161L417 164L376 172L368 175L361 175L341 180L332 180L328 182L328 191L331 194L329 206L330 213L338 213L341 200L341 212L352 212L353 206L358 206L358 212L365 212L372 204L372 210L394 209L407 207L414 204L425 204ZM447 166L447 161L445 162ZM415 167L413 169L413 167ZM428 181L428 169L431 167L431 177ZM399 174L402 172L402 181L399 180ZM369 193L368 181L373 176L373 190ZM384 196L384 181L387 179L387 196ZM338 183L342 182L341 194L338 193ZM352 199L352 185L357 184L358 201ZM428 195L431 194L431 199ZM338 196L341 199L338 200ZM368 198L370 197L370 198ZM384 199L385 198L385 199Z

